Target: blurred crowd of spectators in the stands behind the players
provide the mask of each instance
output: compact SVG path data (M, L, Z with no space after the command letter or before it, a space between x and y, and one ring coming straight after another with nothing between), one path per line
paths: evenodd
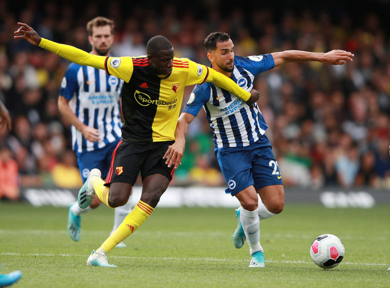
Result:
M286 187L390 187L387 19L366 13L356 20L347 9L337 17L315 9L281 12L257 5L247 11L243 5L224 10L218 9L218 0L202 3L201 10L174 4L151 10L123 9L120 1L107 2L102 9L90 2L77 12L72 1L28 1L14 11L0 0L0 100L13 120L12 131L0 131L0 179L7 175L9 180L0 181L0 197L11 182L17 187L81 185L70 126L57 107L69 62L14 40L17 22L28 23L44 38L89 52L85 25L96 16L115 20L115 56L145 55L147 40L164 35L176 57L210 65L203 39L214 31L229 33L235 54L241 56L292 49L352 52L353 62L346 65L289 63L257 77L254 87L269 126L266 134ZM183 103L191 90L186 89ZM18 174L17 181L7 167ZM203 111L189 126L182 166L172 185L226 186Z

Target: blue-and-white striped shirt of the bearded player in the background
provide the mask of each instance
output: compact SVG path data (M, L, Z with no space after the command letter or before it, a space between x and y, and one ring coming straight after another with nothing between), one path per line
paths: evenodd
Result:
M85 125L98 129L101 139L87 141L72 125L72 149L78 153L101 149L121 135L119 99L123 80L108 76L104 70L75 63L62 78L59 95L69 100L69 107Z

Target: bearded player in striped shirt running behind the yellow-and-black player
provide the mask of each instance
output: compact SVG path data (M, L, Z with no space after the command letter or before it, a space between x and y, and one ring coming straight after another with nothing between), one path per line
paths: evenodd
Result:
M87 23L90 54L109 56L114 41L114 22L97 17ZM107 175L111 155L120 140L120 97L123 80L107 75L103 70L75 63L69 65L62 78L58 106L69 121L72 132L72 149L76 152L78 168L83 182L93 168ZM86 208L75 202L69 206L67 230L74 240L80 239L81 213L97 208L98 197ZM113 231L129 214L130 202L115 208ZM117 247L126 247L121 242Z

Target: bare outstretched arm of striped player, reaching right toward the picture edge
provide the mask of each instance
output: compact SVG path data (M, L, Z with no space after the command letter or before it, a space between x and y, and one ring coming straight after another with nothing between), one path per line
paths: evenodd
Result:
M271 54L275 62L275 67L289 62L318 61L331 65L343 65L347 61L352 61L354 56L351 52L344 50L332 50L328 53L314 53L298 50L287 50Z

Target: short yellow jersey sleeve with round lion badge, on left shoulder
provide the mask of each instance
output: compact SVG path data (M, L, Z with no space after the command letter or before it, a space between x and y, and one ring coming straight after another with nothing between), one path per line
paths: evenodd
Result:
M131 57L107 57L104 69L108 75L113 75L127 83L133 74L133 59Z

